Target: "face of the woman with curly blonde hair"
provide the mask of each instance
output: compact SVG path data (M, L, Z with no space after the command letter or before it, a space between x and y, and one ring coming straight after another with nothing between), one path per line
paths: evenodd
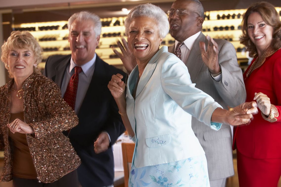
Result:
M36 65L34 53L30 49L12 49L8 54L8 65L15 79L25 80L33 73Z

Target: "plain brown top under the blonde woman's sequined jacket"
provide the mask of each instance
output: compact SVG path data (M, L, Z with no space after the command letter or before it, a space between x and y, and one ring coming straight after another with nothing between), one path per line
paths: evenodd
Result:
M24 121L23 112L11 113L9 123L12 123L17 118ZM13 142L13 176L25 179L36 179L37 174L31 158L26 134L14 134L9 131L9 137Z

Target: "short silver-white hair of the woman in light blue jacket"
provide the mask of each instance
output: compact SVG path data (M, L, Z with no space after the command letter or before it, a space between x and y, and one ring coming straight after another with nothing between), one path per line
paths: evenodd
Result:
M129 34L129 26L136 17L147 16L157 21L159 36L164 38L169 33L169 21L166 13L158 6L146 3L135 6L124 22L126 36Z

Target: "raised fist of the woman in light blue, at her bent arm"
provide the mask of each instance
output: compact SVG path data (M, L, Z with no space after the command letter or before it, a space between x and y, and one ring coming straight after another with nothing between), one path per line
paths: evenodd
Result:
M111 81L109 81L107 85L114 99L119 99L120 97L125 95L125 83L124 81L122 81L122 78L123 75L119 73L116 75L112 75Z

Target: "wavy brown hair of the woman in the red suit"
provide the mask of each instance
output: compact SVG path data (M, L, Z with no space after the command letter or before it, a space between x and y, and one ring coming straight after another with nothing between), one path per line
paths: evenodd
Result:
M249 56L257 56L257 48L255 44L251 41L247 30L248 17L253 12L259 13L264 22L273 27L271 46L275 50L279 49L281 47L281 22L279 19L279 15L273 4L268 3L266 1L258 2L252 4L247 9L247 11L243 15L243 20L241 23L243 34L240 37L240 43L244 44L247 47L247 51L249 51Z

